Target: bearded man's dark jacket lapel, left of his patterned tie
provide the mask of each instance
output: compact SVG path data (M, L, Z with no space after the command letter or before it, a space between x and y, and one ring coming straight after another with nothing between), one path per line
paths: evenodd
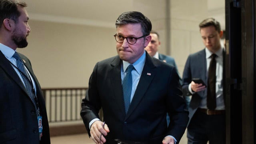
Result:
M0 51L0 67L2 67L3 70L6 72L6 74L8 74L14 80L14 82L16 82L18 84L18 86L20 86L20 88L24 92L26 92L26 94L28 95L24 84L20 80L20 77L18 76L18 74L16 73L16 71L14 70L12 65L10 64L10 61L7 60L7 58L4 56L4 54L1 51Z

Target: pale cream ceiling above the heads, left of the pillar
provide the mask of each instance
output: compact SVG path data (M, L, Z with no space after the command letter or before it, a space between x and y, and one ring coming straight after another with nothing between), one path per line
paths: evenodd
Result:
M32 20L59 21L68 23L102 23L113 26L113 21L122 13L132 10L147 11L151 19L159 15L150 10L163 7L165 0L24 0ZM152 11L152 12L151 12ZM154 18L155 16L155 18ZM161 14L160 16L164 16Z

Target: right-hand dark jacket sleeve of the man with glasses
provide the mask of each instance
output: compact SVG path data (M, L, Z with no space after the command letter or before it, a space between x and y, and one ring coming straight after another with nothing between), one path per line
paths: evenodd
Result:
M179 142L186 126L188 123L188 111L186 109L186 103L182 96L182 91L179 84L179 76L177 72L173 69L170 76L170 90L168 96L168 102L170 106L170 125L168 135L174 136Z

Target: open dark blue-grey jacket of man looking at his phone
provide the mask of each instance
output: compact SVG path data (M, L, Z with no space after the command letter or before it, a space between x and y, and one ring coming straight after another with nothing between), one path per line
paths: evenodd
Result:
M223 60L225 60L225 52L223 51ZM223 62L224 64L225 62ZM224 70L224 66L223 66ZM223 71L223 79L224 79L225 72ZM186 65L183 71L183 85L182 85L182 92L185 96L192 95L188 90L188 85L191 83L192 78L200 78L204 81L204 83L207 85L207 69L206 69L206 53L205 49L196 52L194 54L190 54L188 56L188 59L186 61ZM222 83L223 80L222 80ZM222 84L224 86L224 84ZM223 88L224 89L224 88ZM203 90L200 92L196 92L192 95L190 105L188 108L189 111L189 122L192 119L194 113L196 112L198 106L200 105L200 102L202 100L202 97L204 95L207 95L207 90ZM223 94L224 95L224 94Z

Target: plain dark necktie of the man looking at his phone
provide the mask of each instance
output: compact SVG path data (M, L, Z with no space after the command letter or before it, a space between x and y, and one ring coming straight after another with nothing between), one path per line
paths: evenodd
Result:
M211 55L208 70L207 108L210 110L216 108L216 56L216 54Z

